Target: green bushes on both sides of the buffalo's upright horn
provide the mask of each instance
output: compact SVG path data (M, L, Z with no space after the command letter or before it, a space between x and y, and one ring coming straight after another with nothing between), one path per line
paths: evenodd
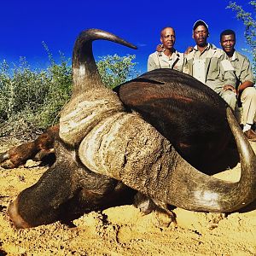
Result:
M45 70L33 70L26 58L13 67L7 61L0 63L0 137L27 138L59 121L61 108L71 96L71 61L60 53L61 63L57 64L46 44L44 48L50 61ZM135 55L100 57L97 66L103 83L113 88L134 78L134 59Z

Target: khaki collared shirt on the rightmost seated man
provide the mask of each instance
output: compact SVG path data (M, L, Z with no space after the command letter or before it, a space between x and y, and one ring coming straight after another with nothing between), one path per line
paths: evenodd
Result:
M247 56L241 55L241 53L235 50L230 58L230 62L235 69L236 86L239 86L245 81L250 81L254 84L253 70Z

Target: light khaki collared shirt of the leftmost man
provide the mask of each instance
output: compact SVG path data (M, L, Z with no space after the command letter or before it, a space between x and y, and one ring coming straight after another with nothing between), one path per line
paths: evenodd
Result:
M175 50L171 57L166 56L163 52L155 51L148 56L148 71L157 68L172 68L182 72L184 65L183 53Z

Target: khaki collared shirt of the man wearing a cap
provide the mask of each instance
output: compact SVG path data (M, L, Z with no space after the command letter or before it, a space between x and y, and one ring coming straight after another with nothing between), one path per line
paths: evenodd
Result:
M219 93L225 84L236 87L236 75L228 55L213 44L200 52L197 46L186 55L183 72L200 79L212 90ZM202 61L199 63L199 61Z

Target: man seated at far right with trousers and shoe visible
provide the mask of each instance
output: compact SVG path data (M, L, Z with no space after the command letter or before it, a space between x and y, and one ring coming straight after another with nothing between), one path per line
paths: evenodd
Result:
M220 45L229 56L236 73L236 92L238 103L241 102L241 124L243 132L250 141L256 142L256 133L251 129L256 113L256 89L253 87L253 72L246 56L236 51L236 33L224 30L220 34Z

